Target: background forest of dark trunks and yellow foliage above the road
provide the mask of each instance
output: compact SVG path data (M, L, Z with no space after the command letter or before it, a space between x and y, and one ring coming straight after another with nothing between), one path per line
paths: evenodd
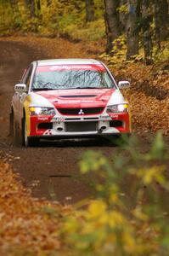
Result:
M142 55L147 64L164 50L168 38L167 0L1 0L1 34L33 32L71 40L104 39L115 55ZM165 48L168 44L165 44Z

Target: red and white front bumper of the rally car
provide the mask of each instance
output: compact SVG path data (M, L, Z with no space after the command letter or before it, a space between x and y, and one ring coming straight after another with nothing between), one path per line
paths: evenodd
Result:
M30 116L28 137L99 137L131 133L129 113L94 116Z

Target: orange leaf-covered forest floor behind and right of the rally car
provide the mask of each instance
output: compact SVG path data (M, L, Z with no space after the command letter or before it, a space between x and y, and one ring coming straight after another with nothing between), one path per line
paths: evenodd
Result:
M89 43L72 43L64 38L38 38L32 36L1 38L3 41L23 42L48 58L101 58L104 40ZM24 67L23 67L24 69ZM169 134L169 66L159 61L146 66L143 61L111 64L116 81L127 79L131 89L123 91L131 104L133 131L142 133L163 130Z

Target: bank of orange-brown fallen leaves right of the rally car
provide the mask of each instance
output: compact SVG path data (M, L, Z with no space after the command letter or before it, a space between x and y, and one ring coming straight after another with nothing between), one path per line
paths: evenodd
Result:
M131 88L123 95L130 102L133 131L162 130L169 135L169 72L165 63L162 67L129 63L111 69L118 80L131 82Z

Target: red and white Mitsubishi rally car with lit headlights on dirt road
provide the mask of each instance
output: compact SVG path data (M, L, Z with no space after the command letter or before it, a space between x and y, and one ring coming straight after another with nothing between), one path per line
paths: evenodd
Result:
M39 139L130 134L130 113L110 71L90 59L34 61L14 86L10 132L25 146Z

